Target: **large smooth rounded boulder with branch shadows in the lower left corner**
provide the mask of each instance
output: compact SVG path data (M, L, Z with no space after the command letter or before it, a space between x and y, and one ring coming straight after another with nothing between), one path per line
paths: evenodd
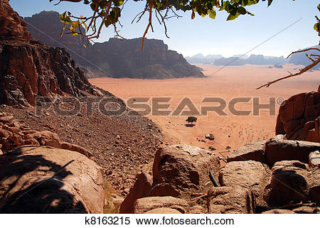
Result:
M99 166L80 153L47 146L0 156L0 212L102 213Z

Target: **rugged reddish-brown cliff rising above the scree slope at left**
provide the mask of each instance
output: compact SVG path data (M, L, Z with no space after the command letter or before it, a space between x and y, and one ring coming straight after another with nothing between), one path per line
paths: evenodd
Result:
M28 106L36 97L99 95L63 48L31 40L26 23L0 2L0 104ZM105 92L107 94L107 92Z

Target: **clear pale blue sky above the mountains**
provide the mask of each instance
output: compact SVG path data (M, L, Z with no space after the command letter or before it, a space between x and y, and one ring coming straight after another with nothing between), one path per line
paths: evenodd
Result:
M43 10L58 11L60 13L68 10L79 16L90 16L91 9L81 3L61 2L58 6L54 4L58 0L10 0L11 6L21 16L32 16ZM139 23L132 24L131 21L137 13L144 8L143 2L129 0L124 6L120 21L123 28L119 28L120 35L124 38L142 37L147 25L147 16ZM252 50L250 54L262 54L272 56L287 56L294 50L306 48L319 43L319 36L314 31L314 16L319 14L316 9L319 0L274 0L270 7L267 1L262 1L257 5L247 6L247 9L255 16L240 16L235 21L225 21L227 13L218 11L215 20L206 16L202 18L196 13L196 18L191 20L191 12L179 13L182 18L171 18L167 21L168 35L164 36L164 28L154 18L154 33L149 31L146 38L156 38L164 40L169 45L169 49L187 55L221 54L229 57L235 54L244 54L256 45L264 42L274 34L279 33L290 24L279 35L268 40L259 48ZM98 40L103 42L114 36L113 28L105 28L102 36Z

